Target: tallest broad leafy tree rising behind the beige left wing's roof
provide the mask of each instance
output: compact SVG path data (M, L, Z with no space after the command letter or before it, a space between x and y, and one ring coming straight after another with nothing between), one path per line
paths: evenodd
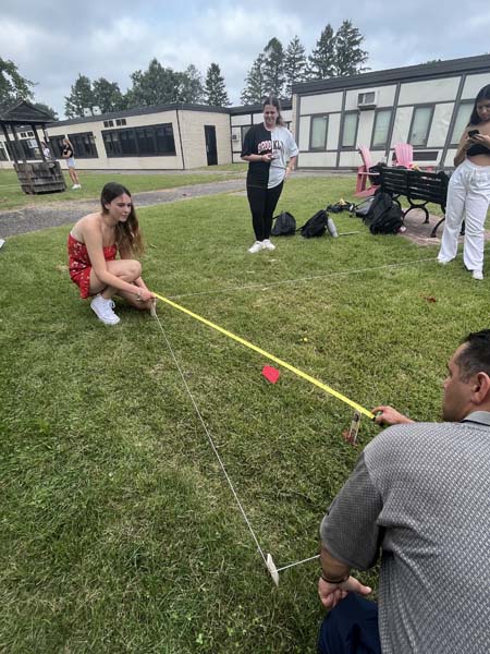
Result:
M132 107L150 107L180 101L182 73L171 68L163 68L157 59L152 59L146 71L132 73L132 88L127 92L127 105Z

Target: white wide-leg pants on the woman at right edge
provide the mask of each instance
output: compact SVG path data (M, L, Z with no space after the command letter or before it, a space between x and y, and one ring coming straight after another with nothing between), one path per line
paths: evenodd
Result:
M468 270L483 268L483 229L490 203L490 166L465 159L451 175L444 231L438 259L446 263L457 253L457 237L465 219L463 261Z

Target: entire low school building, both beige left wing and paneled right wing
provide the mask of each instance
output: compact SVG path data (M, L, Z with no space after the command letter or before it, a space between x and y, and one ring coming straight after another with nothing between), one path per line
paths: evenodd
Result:
M299 147L299 169L353 170L357 146L375 161L390 161L396 143L411 143L414 161L452 168L457 142L478 90L490 84L490 55L437 61L297 84L283 118ZM166 105L85 118L48 126L53 156L68 135L79 169L187 170L241 161L247 130L262 120L261 106ZM91 113L94 112L94 116ZM15 147L40 158L28 130ZM11 154L0 134L0 168Z

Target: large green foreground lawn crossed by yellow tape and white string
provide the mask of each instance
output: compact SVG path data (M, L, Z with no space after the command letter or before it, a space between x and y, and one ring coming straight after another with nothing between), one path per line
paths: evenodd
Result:
M302 225L353 186L293 179L280 208ZM254 256L243 195L139 217L150 288L368 409L438 420L449 355L488 327L488 281L461 257L438 266L436 247L372 237L347 215L339 232L360 233L277 239ZM66 233L0 250L0 650L314 652L317 562L273 585L158 323L124 306L119 326L98 322L69 279ZM257 353L158 311L261 548L278 566L315 555L324 509L378 428L363 420L347 446L348 407L287 371L268 384Z

